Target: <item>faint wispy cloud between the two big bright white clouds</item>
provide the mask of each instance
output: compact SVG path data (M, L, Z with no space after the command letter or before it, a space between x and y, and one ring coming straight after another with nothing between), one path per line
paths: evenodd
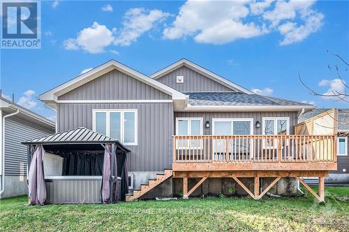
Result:
M156 22L159 22L169 13L164 13L161 10L150 10L147 13L144 8L131 8L124 15L123 28L119 35L114 40L115 45L128 46L135 42L143 33L154 27Z

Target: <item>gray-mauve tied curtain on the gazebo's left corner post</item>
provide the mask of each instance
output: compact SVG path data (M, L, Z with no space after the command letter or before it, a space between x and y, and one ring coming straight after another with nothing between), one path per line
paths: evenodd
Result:
M30 166L28 171L29 204L43 206L46 200L42 145L30 146Z

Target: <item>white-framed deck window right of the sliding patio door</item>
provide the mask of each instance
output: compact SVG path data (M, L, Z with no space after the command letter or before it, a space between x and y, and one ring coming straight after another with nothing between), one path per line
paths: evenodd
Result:
M290 118L263 118L262 134L276 135L276 134L290 134ZM266 139L264 141L265 147L276 146L276 139Z

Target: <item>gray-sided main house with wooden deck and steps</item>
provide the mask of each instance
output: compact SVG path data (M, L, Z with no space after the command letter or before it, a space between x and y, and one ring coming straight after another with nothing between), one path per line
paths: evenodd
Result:
M271 186L281 177L311 173L323 178L336 168L333 160L314 157L318 162L310 165L300 160L304 155L298 154L299 138L288 137L295 133L302 110L313 109L313 105L257 95L186 59L150 77L108 61L39 99L57 110L57 132L86 127L119 139L131 150L130 185L139 190L128 200L146 193L149 197L246 194L242 193L246 187L235 180L240 177L254 178L245 185L254 186L253 197L258 199L259 186L267 187L274 177ZM299 149L294 150L295 146ZM165 178L156 176L164 169L170 169ZM234 180L224 180L227 176ZM270 178L263 183L260 176ZM188 185L195 182L188 177L201 179L195 188L207 177L216 179L207 180L202 185L206 187L193 192ZM153 179L148 182L149 178ZM168 184L163 183L165 179ZM158 192L149 192L157 185ZM295 186L295 181L286 178L273 190L286 194L297 191ZM321 194L319 197L323 200Z

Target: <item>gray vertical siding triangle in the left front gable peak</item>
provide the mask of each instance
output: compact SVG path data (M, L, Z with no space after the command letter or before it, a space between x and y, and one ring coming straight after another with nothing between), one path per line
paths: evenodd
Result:
M150 78L150 77L149 77ZM119 70L112 70L91 82L75 88L59 100L168 100L171 96L129 77Z

